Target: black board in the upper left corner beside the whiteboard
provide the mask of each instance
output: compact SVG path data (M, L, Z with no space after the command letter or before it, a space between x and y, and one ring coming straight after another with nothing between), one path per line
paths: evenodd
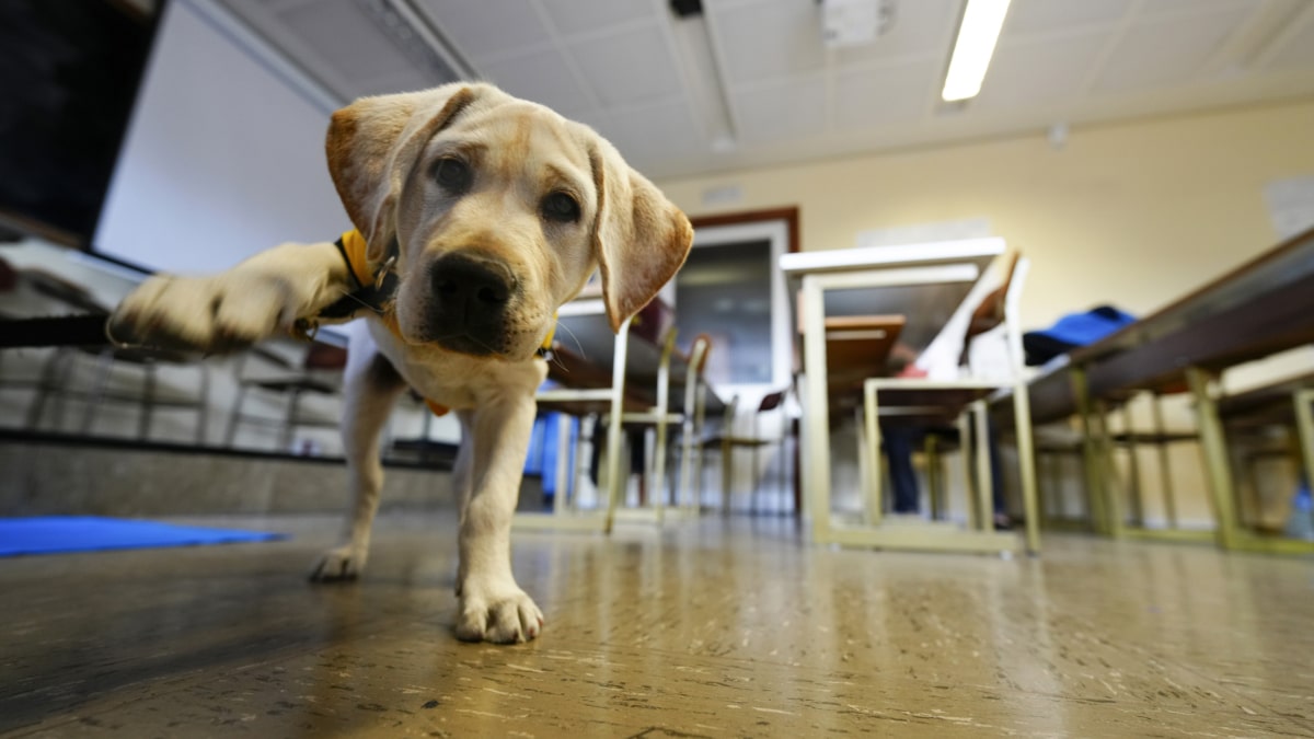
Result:
M0 229L89 249L164 0L0 1Z

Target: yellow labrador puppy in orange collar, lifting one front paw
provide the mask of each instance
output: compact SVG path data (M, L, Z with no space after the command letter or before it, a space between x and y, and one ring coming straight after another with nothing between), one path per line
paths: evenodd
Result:
M109 330L223 350L364 316L342 427L355 510L311 577L351 579L365 565L378 433L410 385L463 429L456 634L533 639L543 614L511 575L510 526L547 375L537 350L597 268L619 330L683 263L692 229L591 129L486 84L361 99L332 116L327 154L356 231L214 276L154 276Z

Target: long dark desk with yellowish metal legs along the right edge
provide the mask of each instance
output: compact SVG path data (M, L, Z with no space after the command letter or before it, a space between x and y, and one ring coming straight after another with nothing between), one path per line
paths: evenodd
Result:
M1214 539L1225 548L1310 551L1257 539L1238 527L1235 489L1218 410L1218 377L1246 362L1314 342L1314 230L1290 238L1122 330L1068 354L1029 387L1037 423L1083 421L1092 518L1109 535L1127 531L1105 484L1102 414L1138 392L1189 391L1205 452Z

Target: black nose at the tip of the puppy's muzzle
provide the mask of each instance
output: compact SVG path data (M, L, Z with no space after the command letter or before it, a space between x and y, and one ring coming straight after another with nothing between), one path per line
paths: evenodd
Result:
M428 334L444 348L485 356L509 346L507 317L519 291L511 270L494 259L448 254L430 268Z

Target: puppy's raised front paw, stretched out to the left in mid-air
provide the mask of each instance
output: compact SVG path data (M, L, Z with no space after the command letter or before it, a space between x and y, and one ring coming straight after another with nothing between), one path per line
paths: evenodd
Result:
M125 343L231 351L292 325L288 293L288 285L269 275L156 275L124 298L109 318L109 333Z

